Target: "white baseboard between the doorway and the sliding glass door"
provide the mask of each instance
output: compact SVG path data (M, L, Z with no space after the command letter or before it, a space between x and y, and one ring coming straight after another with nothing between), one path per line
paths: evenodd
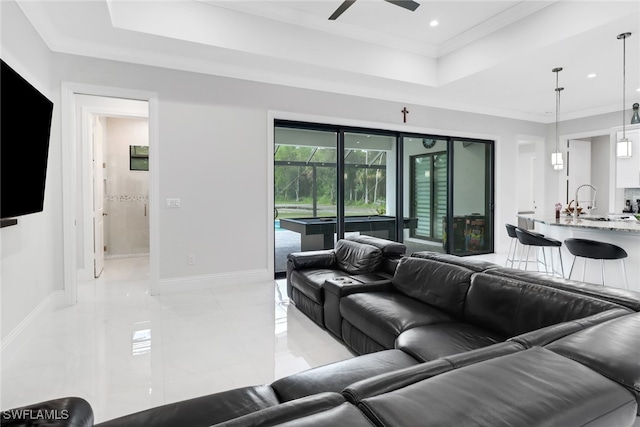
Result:
M234 273L207 274L202 276L161 279L154 294L215 289L229 285L260 283L273 280L268 269L248 270Z

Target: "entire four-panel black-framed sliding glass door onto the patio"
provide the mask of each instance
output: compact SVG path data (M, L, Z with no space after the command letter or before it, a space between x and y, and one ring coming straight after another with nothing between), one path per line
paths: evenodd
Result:
M493 141L276 121L276 275L289 253L350 233L408 253L492 252L492 183Z

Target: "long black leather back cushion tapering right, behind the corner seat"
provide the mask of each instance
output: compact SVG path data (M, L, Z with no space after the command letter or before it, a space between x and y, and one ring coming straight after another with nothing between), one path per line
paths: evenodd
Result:
M476 273L465 301L466 321L515 336L622 306L508 277Z

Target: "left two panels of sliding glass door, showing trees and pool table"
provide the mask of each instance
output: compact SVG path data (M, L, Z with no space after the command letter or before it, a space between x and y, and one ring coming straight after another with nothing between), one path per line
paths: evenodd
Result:
M345 235L397 239L395 134L278 121L274 142L276 275Z

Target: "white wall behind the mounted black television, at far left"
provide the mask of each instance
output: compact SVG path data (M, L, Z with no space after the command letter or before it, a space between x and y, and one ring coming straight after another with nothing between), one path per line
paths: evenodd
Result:
M44 211L20 217L17 225L0 230L4 347L29 314L63 289L63 248L60 104L58 85L50 77L53 55L15 3L0 2L0 13L2 59L54 103Z

